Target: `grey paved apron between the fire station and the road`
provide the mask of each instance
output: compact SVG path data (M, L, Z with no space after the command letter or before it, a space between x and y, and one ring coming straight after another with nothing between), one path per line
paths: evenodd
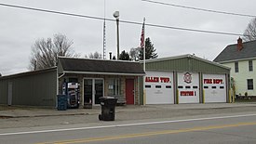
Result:
M92 109L57 109L0 106L0 128L33 127L61 124L95 124L101 106ZM256 103L211 103L172 105L127 105L115 108L115 122L149 119L182 118L185 116L255 112Z

